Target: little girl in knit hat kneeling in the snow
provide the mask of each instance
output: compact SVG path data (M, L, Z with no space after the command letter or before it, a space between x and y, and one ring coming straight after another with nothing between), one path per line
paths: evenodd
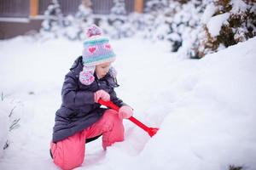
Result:
M113 88L116 71L111 67L115 59L107 37L99 27L87 31L83 56L65 77L61 108L55 114L50 154L55 165L62 169L79 167L84 161L85 143L102 135L104 150L114 142L124 140L123 118L133 115L130 106L116 96ZM111 100L119 112L101 108L98 99Z

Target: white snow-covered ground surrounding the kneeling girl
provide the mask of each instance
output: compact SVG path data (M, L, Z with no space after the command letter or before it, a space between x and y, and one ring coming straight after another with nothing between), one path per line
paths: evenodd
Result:
M86 144L77 169L256 168L256 38L201 60L170 54L160 42L131 38L112 44L119 98L160 131L151 139L125 121L125 141L107 151L99 139ZM0 150L1 170L58 169L49 141L64 75L81 49L81 42L64 39L0 42L0 144L9 140ZM13 108L20 127L8 133Z

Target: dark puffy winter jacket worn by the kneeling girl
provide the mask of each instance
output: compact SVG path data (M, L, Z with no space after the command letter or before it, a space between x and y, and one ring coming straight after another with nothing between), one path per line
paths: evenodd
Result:
M82 57L75 60L67 73L61 90L61 108L55 113L55 126L53 128L53 142L66 139L74 133L82 131L97 122L106 110L94 101L94 93L103 89L110 94L114 104L125 105L116 97L113 88L119 85L114 77L108 73L102 79L97 79L86 86L79 82L79 72L83 70Z

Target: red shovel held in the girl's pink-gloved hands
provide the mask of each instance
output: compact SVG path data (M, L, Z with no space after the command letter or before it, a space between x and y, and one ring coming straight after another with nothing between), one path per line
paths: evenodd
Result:
M105 105L114 111L119 111L119 106L114 105L112 101L103 101L102 99L98 100L98 103L101 105ZM129 118L131 122L134 122L138 127L141 127L144 131L146 131L150 137L154 136L155 133L159 130L157 127L147 127L142 122L138 121L135 117L131 116Z

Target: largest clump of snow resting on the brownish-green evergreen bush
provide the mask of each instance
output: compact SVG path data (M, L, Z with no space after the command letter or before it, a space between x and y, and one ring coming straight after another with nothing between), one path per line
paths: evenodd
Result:
M217 37L221 26L223 26L224 22L230 18L230 13L218 14L213 16L209 22L207 23L207 28L212 35L212 37Z

